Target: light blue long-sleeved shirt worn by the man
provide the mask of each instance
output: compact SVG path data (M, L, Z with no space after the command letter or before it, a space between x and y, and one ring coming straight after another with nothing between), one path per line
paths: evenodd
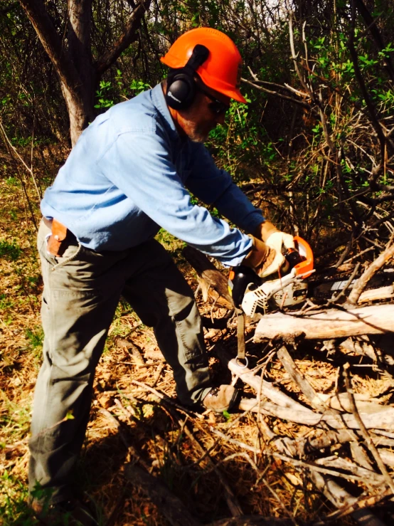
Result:
M157 85L82 132L41 211L94 251L137 246L162 227L225 265L239 265L250 237L192 204L188 190L246 232L264 221L206 147L180 137Z

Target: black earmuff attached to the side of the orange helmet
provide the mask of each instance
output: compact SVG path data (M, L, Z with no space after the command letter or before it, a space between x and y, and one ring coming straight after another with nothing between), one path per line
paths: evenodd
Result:
M196 70L208 58L209 50L202 44L194 46L193 53L183 68L171 70L167 77L166 103L174 110L186 110L196 95Z

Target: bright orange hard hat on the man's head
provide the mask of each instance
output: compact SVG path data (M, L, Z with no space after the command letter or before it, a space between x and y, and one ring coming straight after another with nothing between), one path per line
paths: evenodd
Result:
M183 33L160 60L172 69L183 68L197 44L206 46L210 52L196 70L203 83L238 102L246 102L240 93L240 52L231 38L217 29L201 27Z

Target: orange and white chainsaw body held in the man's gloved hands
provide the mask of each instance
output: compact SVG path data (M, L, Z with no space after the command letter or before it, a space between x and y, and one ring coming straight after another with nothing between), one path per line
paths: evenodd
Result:
M277 273L267 278L249 267L240 265L230 270L228 288L235 306L253 317L256 312L291 307L307 298L306 278L314 272L312 249L304 239L294 237L294 248L287 248L284 264Z

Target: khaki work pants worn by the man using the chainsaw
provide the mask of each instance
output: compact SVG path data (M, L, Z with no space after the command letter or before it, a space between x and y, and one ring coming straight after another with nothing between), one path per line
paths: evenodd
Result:
M41 222L43 365L34 396L29 466L53 491L53 503L71 495L73 466L85 437L95 367L122 295L154 335L174 370L183 404L208 393L211 379L201 319L193 293L171 257L151 240L125 251L97 253L70 241L62 257L46 251L50 230ZM73 414L73 419L66 415Z

